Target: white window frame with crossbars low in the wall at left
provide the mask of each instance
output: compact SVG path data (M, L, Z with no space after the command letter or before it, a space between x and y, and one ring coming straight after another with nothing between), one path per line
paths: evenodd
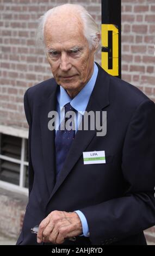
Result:
M0 151L0 159L20 164L20 184L15 185L15 184L11 184L10 182L0 180L0 187L9 191L19 192L28 196L28 188L24 187L25 178L26 178L26 170L24 167L28 166L28 162L24 161L26 139L28 139L28 130L20 130L10 126L0 125L0 135L1 134L20 137L22 139L22 143L21 143L21 159L20 160L14 159L13 157L1 155L1 151ZM0 136L0 142L1 142L1 136Z

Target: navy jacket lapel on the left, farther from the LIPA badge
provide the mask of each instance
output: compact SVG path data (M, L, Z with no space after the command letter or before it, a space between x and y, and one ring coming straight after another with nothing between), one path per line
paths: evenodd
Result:
M40 106L40 127L42 141L42 155L44 159L44 170L49 194L51 194L55 184L55 131L48 129L48 113L55 110L57 101L57 83L51 84L51 95L44 99Z

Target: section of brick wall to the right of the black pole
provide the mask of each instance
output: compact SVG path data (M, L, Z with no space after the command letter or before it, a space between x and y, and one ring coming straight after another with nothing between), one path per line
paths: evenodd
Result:
M122 0L122 79L155 100L155 1Z

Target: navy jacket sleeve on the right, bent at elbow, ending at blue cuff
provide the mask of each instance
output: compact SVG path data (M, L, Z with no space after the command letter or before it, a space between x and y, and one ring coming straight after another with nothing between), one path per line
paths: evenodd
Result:
M133 113L122 149L127 189L120 198L79 209L88 221L90 240L119 241L155 224L155 105L142 102Z

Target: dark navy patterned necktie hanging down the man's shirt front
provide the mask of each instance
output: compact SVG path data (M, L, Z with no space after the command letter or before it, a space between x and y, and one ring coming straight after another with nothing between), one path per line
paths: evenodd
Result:
M75 109L70 105L70 103L67 103L65 105L65 115L68 111L74 111ZM69 118L65 118L65 124L66 121L69 120ZM70 126L75 125L74 123L70 122ZM60 171L63 167L63 164L65 162L66 156L69 153L71 144L73 142L73 139L75 138L75 129L74 130L68 130L64 129L61 130L62 124L59 125L58 131L55 135L55 154L56 154L56 180L58 179L58 175L60 174Z

